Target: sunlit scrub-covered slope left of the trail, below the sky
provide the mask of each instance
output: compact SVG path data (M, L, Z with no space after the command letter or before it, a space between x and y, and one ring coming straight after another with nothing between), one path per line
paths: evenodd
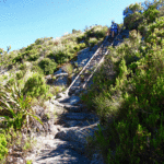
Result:
M14 157L15 147L22 150L22 156L32 149L33 142L22 136L24 130L31 129L32 118L39 121L32 106L43 106L63 89L49 86L45 75L52 77L54 71L72 60L81 49L102 42L106 31L107 27L98 25L84 33L74 31L59 39L38 38L11 52L0 49L0 68L7 71L4 75L0 74L0 163ZM5 118L5 125L2 118Z

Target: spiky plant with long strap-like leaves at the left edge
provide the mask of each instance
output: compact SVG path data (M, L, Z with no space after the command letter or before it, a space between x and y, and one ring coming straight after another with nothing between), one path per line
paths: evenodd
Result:
M7 127L13 126L15 130L30 130L30 120L35 118L40 124L40 119L34 115L30 105L31 97L23 96L21 89L15 83L13 86L0 85L0 117L7 122Z

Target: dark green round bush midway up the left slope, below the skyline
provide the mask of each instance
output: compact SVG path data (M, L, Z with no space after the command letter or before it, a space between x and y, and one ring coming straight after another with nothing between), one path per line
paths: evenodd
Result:
M44 70L45 74L52 74L57 69L57 63L49 58L45 58L39 62L39 67Z

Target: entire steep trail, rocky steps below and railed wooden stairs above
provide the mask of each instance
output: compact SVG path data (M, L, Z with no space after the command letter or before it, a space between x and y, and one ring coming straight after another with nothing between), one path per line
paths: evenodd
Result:
M56 110L60 115L57 119L50 117L47 128L50 129L49 133L47 132L45 137L35 136L37 144L26 160L32 160L33 164L104 163L98 150L93 150L91 156L87 154L87 137L94 137L99 119L96 114L87 112L85 105L81 103L80 94L91 85L94 72L109 52L107 47L122 43L124 35L128 37L129 31L121 31L114 40L106 36L70 86L60 94L61 97L48 102L50 113Z

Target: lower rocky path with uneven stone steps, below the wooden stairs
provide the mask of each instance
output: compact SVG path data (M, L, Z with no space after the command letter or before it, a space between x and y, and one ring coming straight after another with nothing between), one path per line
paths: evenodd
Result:
M73 98L78 99L75 96L71 97L71 99ZM94 136L99 122L98 117L84 109L84 106L83 110L74 112L75 104L73 104L72 108L70 104L69 109L57 106L54 101L49 102L48 105L49 107L54 106L54 109L58 108L60 115L49 124L50 132L46 136L35 136L37 144L26 160L33 160L33 164L103 163L103 159L96 152L89 157L85 151L85 145L87 145L86 137Z

